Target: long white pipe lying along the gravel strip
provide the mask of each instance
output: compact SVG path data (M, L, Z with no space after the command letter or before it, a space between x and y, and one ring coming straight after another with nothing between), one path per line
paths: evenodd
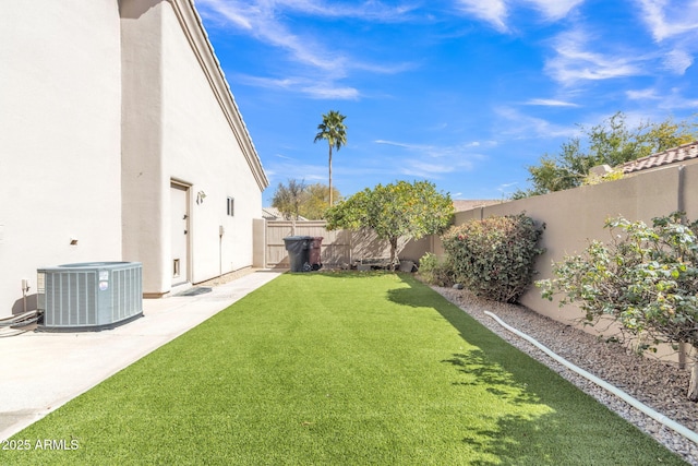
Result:
M525 334L522 332L519 332L518 330L514 328L513 326L506 324L504 321L502 321L502 319L500 319L498 316L496 316L492 312L485 311L484 313L486 315L491 316L492 319L494 319L504 328L506 328L509 332L514 333L515 335L518 335L521 338L526 339L531 345L535 346L538 349L540 349L541 351L545 353L547 356L550 356L551 358L553 358L554 360L559 362L561 365L563 365L566 368L570 369L571 371L578 373L579 375L583 377L585 379L590 380L591 382L595 383L597 385L601 386L602 389L611 392L612 394L616 395L617 397L623 399L628 405L639 409L640 411L645 413L647 416L651 417L655 421L666 426L667 428L670 428L673 431L682 434L683 437L685 437L686 439L690 440L691 442L698 444L698 433L696 433L693 430L690 430L690 429L679 425L678 422L667 418L666 416L657 413L655 410L653 410L652 408L650 408L646 404L641 403L640 401L638 401L638 399L631 397L630 395L628 395L627 393L623 392L621 389L618 389L616 386L613 386L610 383L599 379L598 377L587 372L586 370L581 369L580 367L577 367L577 366L573 365L568 360L566 360L563 357L556 355L551 349L549 349L547 347L545 347L542 344L540 344L538 340L533 339L532 337L528 336L527 334Z

